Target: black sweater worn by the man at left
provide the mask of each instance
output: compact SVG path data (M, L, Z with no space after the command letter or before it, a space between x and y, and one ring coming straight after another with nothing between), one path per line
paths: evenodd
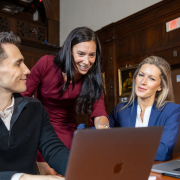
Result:
M38 149L45 161L64 175L69 150L56 135L45 108L35 98L13 94L10 131L0 119L0 180L16 172L36 174Z

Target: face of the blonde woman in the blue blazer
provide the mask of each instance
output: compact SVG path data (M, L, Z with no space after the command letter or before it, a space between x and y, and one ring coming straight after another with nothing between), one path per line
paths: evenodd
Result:
M161 91L161 71L153 64L144 64L141 66L136 77L135 93L138 98L152 101L155 99L157 91Z

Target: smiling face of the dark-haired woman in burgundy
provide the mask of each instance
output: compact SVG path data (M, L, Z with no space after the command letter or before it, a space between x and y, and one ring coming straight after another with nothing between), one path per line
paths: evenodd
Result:
M72 48L74 74L85 75L96 60L96 44L92 41L78 43Z

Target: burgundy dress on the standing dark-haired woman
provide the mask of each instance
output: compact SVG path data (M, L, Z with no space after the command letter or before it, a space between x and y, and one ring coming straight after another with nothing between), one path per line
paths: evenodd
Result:
M32 68L27 79L27 90L22 95L32 96L37 89L36 97L45 106L58 137L70 149L73 133L77 127L75 104L81 91L82 79L75 82L73 90L70 83L60 96L59 91L64 84L61 69L54 65L54 56L46 55L40 58ZM96 116L107 116L104 96L94 103L91 121ZM37 161L44 161L40 153L38 153Z

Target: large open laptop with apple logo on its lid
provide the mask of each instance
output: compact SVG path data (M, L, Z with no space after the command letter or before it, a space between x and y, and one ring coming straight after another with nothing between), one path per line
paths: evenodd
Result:
M163 127L78 130L66 180L147 180Z

